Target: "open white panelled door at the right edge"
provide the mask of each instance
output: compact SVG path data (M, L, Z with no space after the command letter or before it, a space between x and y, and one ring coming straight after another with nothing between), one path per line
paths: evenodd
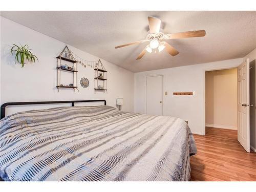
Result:
M238 66L238 141L250 153L249 59Z

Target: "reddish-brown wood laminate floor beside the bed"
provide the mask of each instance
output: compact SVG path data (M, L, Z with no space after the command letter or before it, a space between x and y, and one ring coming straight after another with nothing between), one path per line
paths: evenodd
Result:
M256 181L256 153L244 150L237 131L206 127L205 136L194 137L191 181Z

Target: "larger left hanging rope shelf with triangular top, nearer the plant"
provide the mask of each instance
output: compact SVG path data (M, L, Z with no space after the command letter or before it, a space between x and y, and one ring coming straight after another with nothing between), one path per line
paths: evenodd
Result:
M72 88L77 91L79 91L77 89L77 66L76 63L77 61L75 60L74 56L72 55L71 51L69 50L69 48L66 46L61 53L59 54L59 56L56 57L57 58L57 86L56 88L58 89L59 92L59 88ZM68 61L73 63L72 67L69 67L67 64L62 64L61 61ZM61 71L65 71L65 72L72 72L73 73L73 83L70 83L69 86L63 86L63 84L60 84L60 77L61 77Z

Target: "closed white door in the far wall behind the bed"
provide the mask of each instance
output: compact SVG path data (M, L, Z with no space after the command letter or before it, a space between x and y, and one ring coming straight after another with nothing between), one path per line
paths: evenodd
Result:
M146 77L146 114L163 115L163 76Z

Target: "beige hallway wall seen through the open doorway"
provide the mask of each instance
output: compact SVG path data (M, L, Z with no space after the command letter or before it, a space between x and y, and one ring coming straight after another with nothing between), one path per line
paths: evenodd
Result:
M238 129L237 68L205 73L205 126Z

